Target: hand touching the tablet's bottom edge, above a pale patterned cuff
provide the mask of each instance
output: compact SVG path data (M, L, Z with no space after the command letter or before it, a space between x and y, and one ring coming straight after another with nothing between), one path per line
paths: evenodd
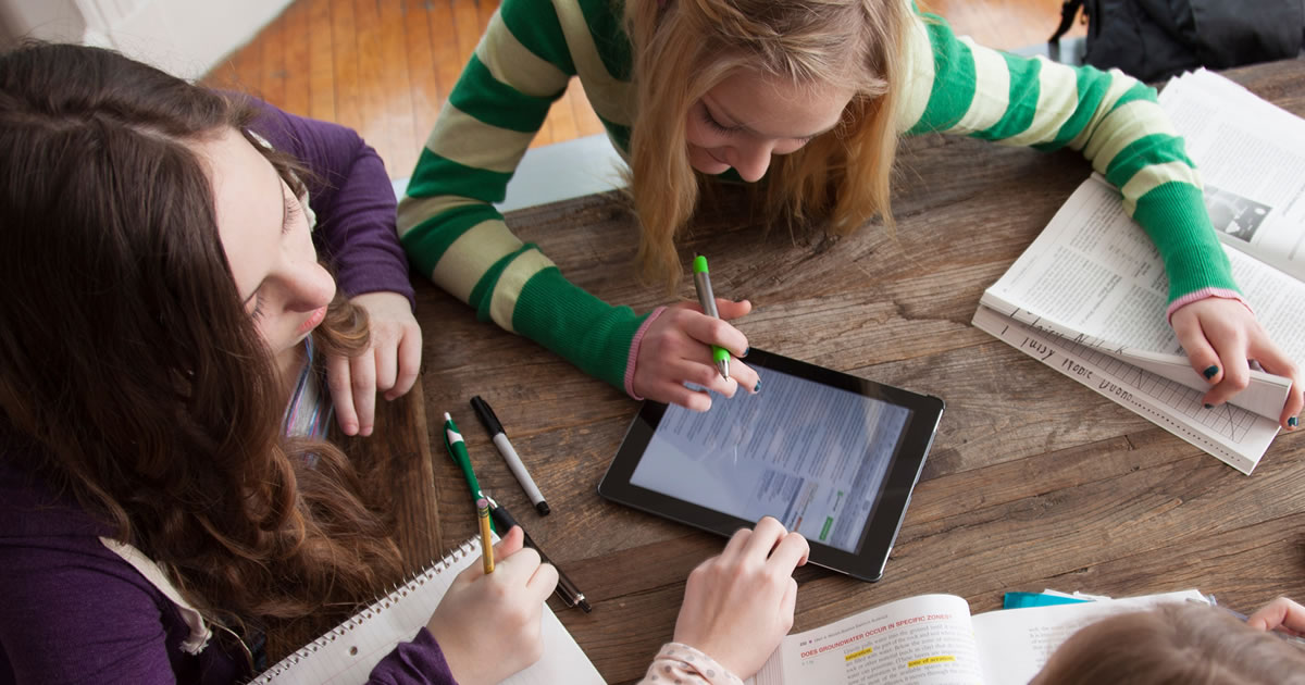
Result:
M766 663L793 626L793 568L810 548L774 518L733 534L720 556L689 574L675 621L675 642L711 656L740 678Z

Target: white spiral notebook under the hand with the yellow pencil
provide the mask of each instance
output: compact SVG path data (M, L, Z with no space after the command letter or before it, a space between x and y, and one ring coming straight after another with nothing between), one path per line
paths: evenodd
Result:
M367 682L372 668L399 642L412 639L431 620L444 592L462 569L480 560L480 540L471 539L442 560L376 600L325 635L286 656L253 680L256 685L352 685ZM544 604L544 656L504 682L603 685L603 677L581 651L552 609Z

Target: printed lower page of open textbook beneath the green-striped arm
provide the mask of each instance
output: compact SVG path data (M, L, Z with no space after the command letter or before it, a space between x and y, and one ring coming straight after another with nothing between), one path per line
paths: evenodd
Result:
M1305 282L1227 249L1233 278L1283 351L1305 363ZM1160 254L1124 213L1118 190L1092 175L980 301L1002 314L1095 347L1206 391L1165 320ZM1291 382L1251 372L1233 402L1278 419Z

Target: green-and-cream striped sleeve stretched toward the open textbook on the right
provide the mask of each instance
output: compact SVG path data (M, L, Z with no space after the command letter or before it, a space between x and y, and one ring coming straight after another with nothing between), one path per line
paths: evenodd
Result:
M907 134L959 133L1004 145L1081 151L1124 197L1169 277L1169 300L1203 288L1237 290L1210 223L1201 177L1155 89L1117 69L1071 68L957 38L917 16L907 40Z

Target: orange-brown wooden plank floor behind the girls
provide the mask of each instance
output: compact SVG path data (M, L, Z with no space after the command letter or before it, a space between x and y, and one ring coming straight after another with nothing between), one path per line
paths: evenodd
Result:
M1041 43L1061 0L928 0L958 34L1011 50ZM408 176L440 106L499 0L295 0L205 80L356 129L390 176ZM1082 27L1078 29L1082 31ZM602 133L573 80L534 145Z

